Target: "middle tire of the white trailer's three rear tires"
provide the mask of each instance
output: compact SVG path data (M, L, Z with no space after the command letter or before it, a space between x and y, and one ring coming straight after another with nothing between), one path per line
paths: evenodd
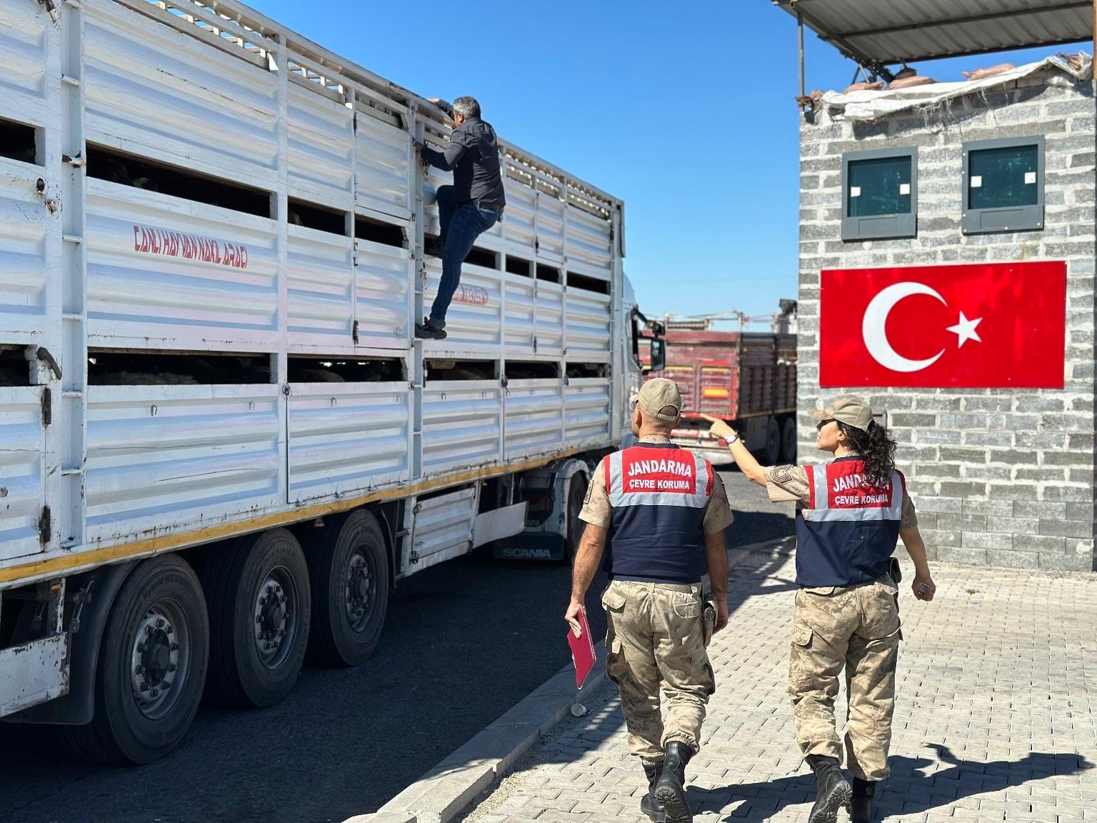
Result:
M199 575L210 602L206 698L273 706L301 674L312 622L308 566L285 529L208 546Z

